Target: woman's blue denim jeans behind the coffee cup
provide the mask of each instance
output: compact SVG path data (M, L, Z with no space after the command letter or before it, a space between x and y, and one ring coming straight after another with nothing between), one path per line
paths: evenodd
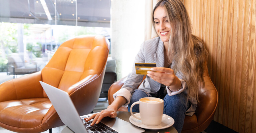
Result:
M128 104L128 111L131 111L131 106L134 102L139 101L143 97L148 97L148 95L142 90L135 90L132 97L131 103ZM185 112L188 107L188 99L183 94L176 94L173 96L169 96L168 94L164 98L164 114L171 116L174 119L174 127L178 131L181 132L184 119ZM133 106L133 112L140 112L139 104Z

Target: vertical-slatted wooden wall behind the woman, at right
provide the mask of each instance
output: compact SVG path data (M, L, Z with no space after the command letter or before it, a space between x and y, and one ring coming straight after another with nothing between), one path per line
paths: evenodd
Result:
M237 132L256 132L256 0L183 0L193 34L209 52L218 91L214 120Z

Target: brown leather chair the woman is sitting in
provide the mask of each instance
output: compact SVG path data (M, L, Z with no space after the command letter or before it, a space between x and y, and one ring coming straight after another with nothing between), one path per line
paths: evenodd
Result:
M144 76L144 79L146 76ZM108 104L110 105L114 98L113 94L122 86L126 77L113 83L108 90ZM218 92L213 85L208 71L204 75L205 87L199 89L199 100L196 113L192 116L185 116L183 133L199 133L204 131L211 123L218 104ZM126 107L120 107L117 111L128 111Z

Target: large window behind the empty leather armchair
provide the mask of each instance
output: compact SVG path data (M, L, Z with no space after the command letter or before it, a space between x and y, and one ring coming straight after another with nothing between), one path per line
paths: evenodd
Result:
M86 34L110 41L110 0L0 0L0 83L41 70L64 41Z

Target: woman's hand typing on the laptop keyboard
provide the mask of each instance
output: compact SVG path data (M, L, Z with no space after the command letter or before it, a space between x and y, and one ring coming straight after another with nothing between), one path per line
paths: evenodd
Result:
M91 122L91 126L93 126L94 124L98 124L104 117L108 116L110 118L115 118L116 115L117 114L115 109L108 106L107 109L101 110L99 113L92 114L90 117L84 119L86 122L93 119L93 121Z

